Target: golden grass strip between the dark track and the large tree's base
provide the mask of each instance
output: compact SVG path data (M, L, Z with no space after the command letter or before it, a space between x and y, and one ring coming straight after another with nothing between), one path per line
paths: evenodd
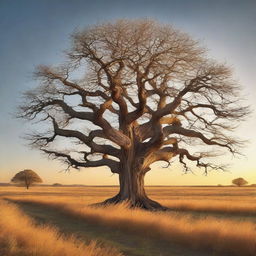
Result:
M24 200L22 200L24 201ZM26 200L33 202L33 200ZM65 214L95 224L107 225L143 236L177 242L197 249L211 249L230 255L256 255L256 225L250 222L219 220L130 210L125 204L107 207L73 207L68 203L34 202L56 207Z

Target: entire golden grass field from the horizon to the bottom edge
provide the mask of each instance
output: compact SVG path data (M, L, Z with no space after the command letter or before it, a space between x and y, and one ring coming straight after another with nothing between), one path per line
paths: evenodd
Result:
M117 190L0 187L0 255L256 255L253 187L147 187L166 212L92 206Z

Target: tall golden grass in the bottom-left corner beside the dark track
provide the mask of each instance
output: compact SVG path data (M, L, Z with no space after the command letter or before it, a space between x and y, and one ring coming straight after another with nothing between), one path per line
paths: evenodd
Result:
M111 248L85 245L63 237L53 227L35 226L17 207L0 201L0 255L5 256L121 256ZM4 217L3 217L4 216Z

